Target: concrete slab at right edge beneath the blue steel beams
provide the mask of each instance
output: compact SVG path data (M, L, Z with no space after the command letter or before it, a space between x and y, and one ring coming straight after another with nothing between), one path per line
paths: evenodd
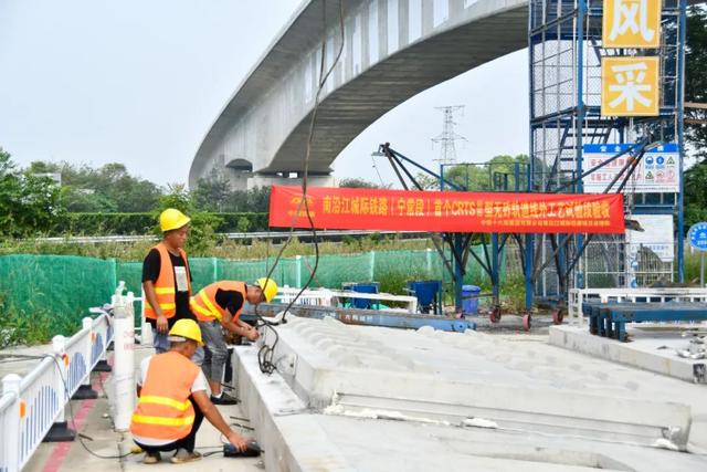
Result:
M598 356L652 373L695 384L707 384L707 359L687 359L677 355L687 349L684 333L694 326L627 326L631 342L620 343L589 333L587 327L552 326L549 342L553 346Z

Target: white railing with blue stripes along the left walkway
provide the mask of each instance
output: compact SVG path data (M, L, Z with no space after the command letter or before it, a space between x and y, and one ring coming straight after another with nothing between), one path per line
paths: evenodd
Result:
M80 332L66 339L54 336L48 354L24 378L2 379L0 396L0 472L20 471L54 423L62 423L64 408L82 385L91 384L91 370L113 340L110 316L84 318Z

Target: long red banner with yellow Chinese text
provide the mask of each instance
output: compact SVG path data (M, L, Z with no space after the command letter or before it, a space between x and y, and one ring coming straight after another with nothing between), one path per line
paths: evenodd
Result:
M623 196L307 190L317 229L486 233L623 233ZM299 214L297 216L297 211ZM299 187L273 186L270 225L309 228Z

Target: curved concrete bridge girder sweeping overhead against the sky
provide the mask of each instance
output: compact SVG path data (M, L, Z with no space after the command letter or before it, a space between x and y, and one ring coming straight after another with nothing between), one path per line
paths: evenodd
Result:
M321 3L300 7L229 101L194 157L190 186L212 169L223 170L235 187L252 187L255 176L264 185L288 181L289 172L302 171L320 61ZM331 64L340 41L338 3L327 2L326 12L325 54ZM310 153L309 169L319 175L330 172L338 154L388 111L527 42L524 0L352 0L345 12L344 53L320 95ZM276 172L284 177L267 178Z

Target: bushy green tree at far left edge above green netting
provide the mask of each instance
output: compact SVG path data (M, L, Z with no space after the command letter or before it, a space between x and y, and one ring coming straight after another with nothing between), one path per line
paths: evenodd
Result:
M0 235L49 231L61 212L54 181L17 170L10 154L0 148Z

